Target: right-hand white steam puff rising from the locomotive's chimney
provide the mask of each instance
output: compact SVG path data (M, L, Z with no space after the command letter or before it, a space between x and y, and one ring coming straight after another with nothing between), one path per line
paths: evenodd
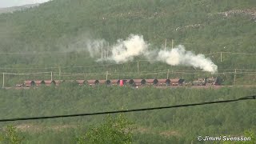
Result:
M206 58L203 54L195 55L191 51L186 51L185 47L181 45L170 51L160 50L157 59L171 66L194 66L211 73L218 70L218 66L210 58Z

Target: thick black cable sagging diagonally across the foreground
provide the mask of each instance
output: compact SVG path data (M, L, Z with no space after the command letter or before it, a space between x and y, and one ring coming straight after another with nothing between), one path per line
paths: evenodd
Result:
M30 118L8 118L8 119L0 119L0 122L26 121L26 120L50 119L50 118L70 118L70 117L80 117L80 116L89 116L89 115L130 113L130 112L136 112L136 111L161 110L161 109L171 109L171 108L187 107L187 106L201 106L201 105L209 105L209 104L214 104L214 103L238 102L238 101L251 100L251 99L256 99L256 95L246 96L246 97L237 98L237 99L224 100L224 101L200 102L200 103L192 103L192 104L184 104L184 105L150 107L150 108L132 109L132 110L116 110L116 111L104 111L104 112L97 112L97 113L67 114L67 115L54 115L54 116L30 117Z

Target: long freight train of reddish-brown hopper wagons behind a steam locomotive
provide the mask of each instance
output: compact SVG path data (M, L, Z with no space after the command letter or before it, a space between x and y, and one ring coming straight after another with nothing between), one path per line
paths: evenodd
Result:
M30 86L59 86L63 82L74 82L78 85L87 86L219 86L221 83L218 78L198 78L193 82L186 82L182 78L174 79L108 79L108 80L29 80L22 84L17 84L16 87L30 87Z

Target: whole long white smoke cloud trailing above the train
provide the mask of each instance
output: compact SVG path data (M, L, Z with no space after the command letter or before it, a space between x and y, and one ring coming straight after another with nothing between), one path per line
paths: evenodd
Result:
M90 56L101 53L101 41L87 42L87 50ZM166 62L170 66L193 66L204 71L215 73L218 66L206 58L203 54L194 54L191 51L186 51L182 45L174 47L171 50L149 50L150 44L145 42L143 36L130 34L126 40L119 39L115 46L108 48L110 56L98 60L110 60L116 63L132 61L136 56L144 56L148 59L154 59L159 62Z

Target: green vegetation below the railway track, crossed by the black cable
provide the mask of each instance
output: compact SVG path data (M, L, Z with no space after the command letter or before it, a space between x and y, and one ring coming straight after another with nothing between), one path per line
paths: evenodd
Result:
M21 118L59 114L171 106L240 98L255 94L246 87L221 89L132 89L115 86L60 86L30 90L0 90L1 118ZM170 110L126 114L134 122L133 143L198 142L198 135L240 135L256 130L255 102L242 101ZM101 127L106 116L58 118L26 122L6 122L26 133L25 143L74 143L75 138ZM94 129L95 130L95 129ZM91 133L90 133L91 134Z

